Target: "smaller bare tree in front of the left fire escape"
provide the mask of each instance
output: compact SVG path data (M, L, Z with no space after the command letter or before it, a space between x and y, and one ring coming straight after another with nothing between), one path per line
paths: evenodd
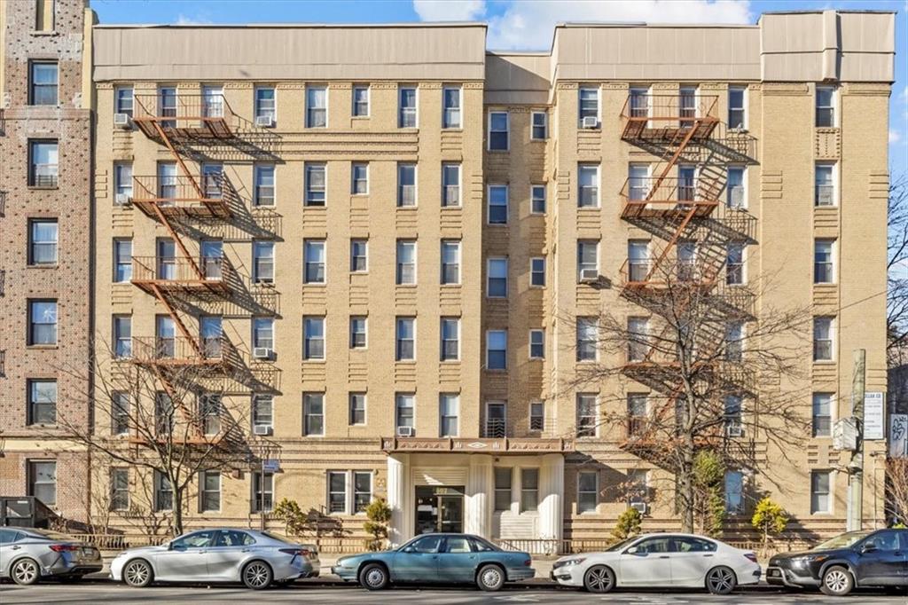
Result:
M137 341L128 358L99 342L88 370L59 369L93 388L79 393L84 402L58 410L54 435L85 446L101 468L133 470L131 496L145 498L131 497L122 516L141 522L144 531L166 524L179 535L201 473L255 468L266 445L251 431L254 376L220 343L212 352L186 343L181 351L180 342L143 347ZM88 426L66 413L84 406L93 411Z

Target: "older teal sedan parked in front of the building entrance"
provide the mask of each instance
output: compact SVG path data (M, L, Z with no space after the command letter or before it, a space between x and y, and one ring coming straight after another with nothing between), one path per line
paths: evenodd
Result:
M391 582L476 584L498 590L536 575L526 552L501 550L466 533L424 533L395 550L341 557L331 571L344 581L381 590Z

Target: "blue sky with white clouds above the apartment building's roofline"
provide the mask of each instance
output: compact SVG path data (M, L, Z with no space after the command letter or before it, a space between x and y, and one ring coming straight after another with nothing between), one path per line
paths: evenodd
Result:
M91 0L103 24L485 21L489 47L548 49L557 21L755 23L760 13L824 8L897 11L890 105L893 178L908 175L908 0Z

